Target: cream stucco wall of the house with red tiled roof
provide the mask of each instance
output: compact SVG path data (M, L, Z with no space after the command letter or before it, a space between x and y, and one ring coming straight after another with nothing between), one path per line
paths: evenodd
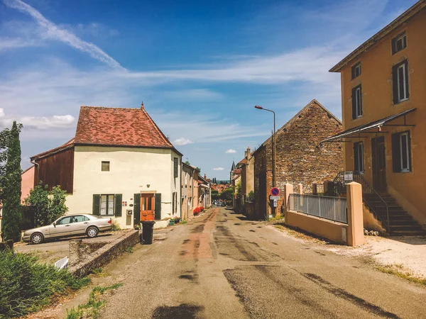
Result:
M173 192L178 192L180 216L180 165L179 176L173 177L173 157L180 155L170 149L136 147L76 146L74 160L73 194L67 196L69 213L92 213L93 194L122 194L122 217L116 218L121 228L126 225L126 211L133 210L133 194L141 191L161 193L161 217L172 213ZM109 172L101 171L101 162L109 161ZM148 187L149 185L149 187Z

